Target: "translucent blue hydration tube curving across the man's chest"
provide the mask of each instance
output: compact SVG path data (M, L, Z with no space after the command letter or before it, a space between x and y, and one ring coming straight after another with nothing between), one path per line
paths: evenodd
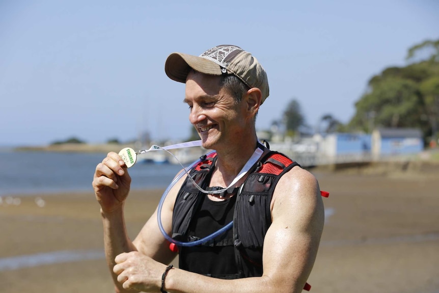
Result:
M214 152L215 151L211 151L211 152L207 153L206 155L210 155L210 154L212 154ZM231 221L229 224L227 224L223 228L217 230L216 232L213 232L212 234L210 234L210 235L208 235L208 236L206 236L204 238L201 238L201 239L199 239L197 241L193 241L193 242L177 241L177 240L173 239L172 237L170 237L168 235L168 233L164 230L163 225L161 223L161 208L163 207L163 203L164 203L164 200L166 199L166 196L168 195L169 191L174 187L174 185L183 177L183 175L188 174L188 171L190 169L194 168L200 162L201 162L201 158L199 158L197 161L195 161L189 167L184 168L184 171L181 171L180 174L178 174L174 178L174 180L172 180L172 182L169 184L168 188L164 191L164 193L161 196L160 201L158 203L158 207L157 207L157 223L158 223L158 228L160 229L160 232L163 234L164 238L166 238L169 242L174 243L177 246L190 247L190 246L197 246L197 245L206 243L206 242L210 241L211 239L215 238L216 236L221 235L222 233L226 232L227 230L229 230L233 226L233 221Z

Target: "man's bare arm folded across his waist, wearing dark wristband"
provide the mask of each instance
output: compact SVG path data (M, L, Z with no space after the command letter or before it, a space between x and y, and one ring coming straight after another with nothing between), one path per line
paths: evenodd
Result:
M272 224L264 241L262 277L237 280L210 278L180 269L169 271L168 292L301 292L311 273L323 229L323 204L316 179L309 172L293 168L277 185L272 201ZM142 259L147 274L130 275L134 254L116 259L114 270L125 288L159 291L166 265ZM138 271L140 273L140 270ZM132 277L132 278L131 278Z

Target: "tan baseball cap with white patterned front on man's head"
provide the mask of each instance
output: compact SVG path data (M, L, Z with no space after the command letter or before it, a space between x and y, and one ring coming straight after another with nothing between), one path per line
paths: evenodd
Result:
M250 88L261 90L261 103L268 97L267 73L251 53L238 46L215 46L200 56L174 52L164 64L164 71L169 78L180 83L186 83L191 68L210 75L234 74Z

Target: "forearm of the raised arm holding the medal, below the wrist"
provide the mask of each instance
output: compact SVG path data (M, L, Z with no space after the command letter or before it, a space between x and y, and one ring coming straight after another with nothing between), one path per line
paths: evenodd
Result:
M123 216L123 207L111 213L105 213L101 209L105 258L108 269L112 275L116 285L117 292L125 292L122 285L117 281L117 275L113 272L115 266L115 257L123 252L136 251L136 247L132 244L128 237L125 220ZM132 292L132 290L130 291Z

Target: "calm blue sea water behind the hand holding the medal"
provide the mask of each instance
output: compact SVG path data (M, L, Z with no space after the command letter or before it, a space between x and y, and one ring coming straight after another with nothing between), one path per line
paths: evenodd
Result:
M90 191L106 153L0 150L0 196ZM138 162L129 169L131 189L165 189L180 165Z

